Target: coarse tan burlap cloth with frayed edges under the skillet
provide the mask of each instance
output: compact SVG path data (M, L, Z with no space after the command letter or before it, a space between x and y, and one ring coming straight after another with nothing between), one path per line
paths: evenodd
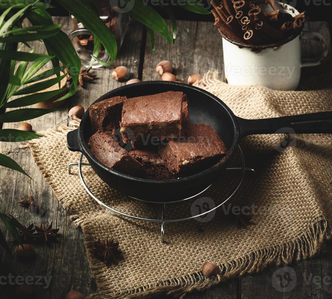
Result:
M307 82L302 80L302 85L308 88L330 85L331 69L328 71ZM332 91L328 88L284 92L258 86L229 86L213 72L208 72L198 85L244 118L278 117L332 108ZM72 211L72 220L83 229L87 255L100 292L89 298L132 298L161 292L181 296L236 274L259 271L273 261L288 263L312 256L330 238L331 135L297 135L296 145L293 142L285 150L280 147L282 135L245 138L241 147L246 164L254 167L256 173L245 176L230 202L241 207L254 204L254 224L239 228L233 217L225 215L226 204L226 209L220 208L212 219L207 217L203 222L167 223L166 243L162 244L159 223L113 214L87 194L76 167L72 174L67 173L68 163L77 162L80 156L67 149L66 134L72 129L62 126L39 132L44 137L30 142L30 148L57 198ZM239 165L237 158L234 165ZM161 206L124 197L106 186L90 167L83 166L83 175L95 195L112 207L141 217L161 217ZM229 195L238 179L239 173L228 172L201 196L210 197L218 204ZM190 216L192 204L193 200L189 200L167 206L166 218ZM119 241L123 252L123 258L110 266L91 253L93 242L106 236ZM201 272L206 261L219 265L220 274L213 282Z

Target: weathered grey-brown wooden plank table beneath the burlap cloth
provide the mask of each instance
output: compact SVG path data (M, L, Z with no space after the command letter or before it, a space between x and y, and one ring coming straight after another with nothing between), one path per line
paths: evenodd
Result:
M54 23L62 24L62 30L69 32L69 20L54 18ZM321 33L330 40L327 23L310 22L307 29ZM178 22L178 37L174 45L169 45L161 36L156 35L156 55L152 54L146 32L141 25L132 24L117 60L110 68L95 70L98 78L78 88L77 93L68 100L68 107L56 113L29 121L34 130L39 131L54 125L68 123L68 110L80 104L86 108L104 93L124 85L112 78L112 70L125 65L132 72L132 78L143 81L159 80L155 71L161 60L170 60L175 66L178 80L187 81L190 74L205 73L208 69L217 69L223 77L222 41L216 28L209 22ZM315 42L308 42L303 49L305 55L319 55L320 49ZM44 52L40 47L36 52ZM17 128L19 124L5 124L3 128ZM49 185L37 169L29 149L20 149L19 143L0 143L0 152L16 160L33 178L1 167L0 172L0 212L12 214L22 224L40 224L53 222L60 228L58 241L53 244L36 247L37 258L33 262L22 263L10 257L0 249L0 278L2 275L46 276L51 278L47 288L36 285L35 298L65 298L67 292L77 289L84 295L97 292L87 261L82 232L69 220L67 212L59 204ZM76 162L76 161L73 161ZM46 212L43 217L25 209L16 202L28 198L31 194L35 202ZM0 228L3 229L2 224ZM7 234L7 240L11 237ZM332 297L332 253L331 242L326 243L320 253L311 259L294 262L289 266L296 273L296 284L290 292L280 292L274 288L272 275L275 265L269 266L258 274L246 274L213 286L204 292L192 293L187 298L330 298ZM14 247L14 244L11 246ZM317 278L317 277L318 278ZM279 277L280 278L280 277ZM278 278L278 279L279 279ZM287 277L285 277L287 279ZM8 280L7 280L8 281ZM0 279L0 298L16 298L15 286L2 285ZM162 297L160 297L162 298Z

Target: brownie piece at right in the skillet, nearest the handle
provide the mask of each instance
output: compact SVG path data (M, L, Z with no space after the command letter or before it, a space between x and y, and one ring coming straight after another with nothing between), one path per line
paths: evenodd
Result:
M216 164L227 152L218 134L207 124L189 124L186 136L159 146L167 168L178 176L188 176Z

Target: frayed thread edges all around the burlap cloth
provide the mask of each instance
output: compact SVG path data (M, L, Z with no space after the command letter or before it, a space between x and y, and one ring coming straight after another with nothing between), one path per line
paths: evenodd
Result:
M213 84L218 79L218 72L207 72L203 79L198 81L198 86L208 86ZM55 126L47 131L37 132L41 136L56 136L74 130L79 125L79 119L75 119L70 123L71 127L65 125ZM53 183L48 177L47 170L40 162L35 145L42 142L41 139L35 139L28 143L31 149L33 159L44 176L46 182L54 190L55 193L59 191L57 185ZM70 198L59 198L60 203L64 208L70 207ZM106 209L105 209L106 212ZM89 264L96 279L97 287L100 293L91 294L87 298L142 298L151 297L158 294L167 294L174 297L183 298L187 293L193 291L203 291L212 285L221 283L236 275L243 275L244 273L253 273L263 270L269 264L276 262L277 265L288 264L292 260L301 260L315 255L321 248L324 240L331 236L327 221L324 217L317 219L312 223L307 232L298 236L295 240L282 245L276 245L270 248L262 248L253 252L248 252L242 258L233 260L219 265L220 273L214 278L206 278L202 272L192 273L190 275L181 276L173 279L159 281L157 283L148 284L139 288L131 290L110 290L108 278L103 273L100 263L96 263L93 256L90 254L94 244L94 230L90 228L89 216L86 213L71 215L70 219L76 226L82 227L84 243L87 250Z

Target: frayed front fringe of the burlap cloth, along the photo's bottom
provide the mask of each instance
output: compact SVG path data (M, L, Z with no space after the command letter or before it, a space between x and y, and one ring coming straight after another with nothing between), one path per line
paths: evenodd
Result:
M93 235L94 232L88 229L88 225L83 225L82 228L85 234L85 246L90 251L93 248L93 238L89 237L89 235ZM91 270L96 277L100 293L92 294L87 298L142 298L158 294L183 298L189 292L203 291L236 275L259 272L273 262L276 262L277 265L282 265L288 264L292 260L311 257L319 251L324 240L328 239L327 228L325 219L317 219L305 234L297 237L294 241L271 248L259 249L244 255L240 259L220 264L220 274L213 279L205 277L202 272L197 272L125 291L114 290L110 292L108 280L106 278L103 279L103 271L98 264L91 262L91 257L88 255ZM108 289L108 291L103 292L103 289Z

